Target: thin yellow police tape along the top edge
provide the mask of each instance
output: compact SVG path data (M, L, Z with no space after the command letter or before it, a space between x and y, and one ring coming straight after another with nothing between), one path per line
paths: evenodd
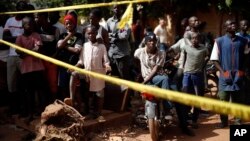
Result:
M116 1L116 2L110 2L110 3L82 4L82 5L73 5L73 6L65 6L65 7L39 9L39 10L2 12L0 14L41 13L41 12L63 11L63 10L71 10L71 9L84 9L84 8L104 7L104 6L130 4L130 3L153 2L153 1L157 1L157 0L131 0L131 1Z

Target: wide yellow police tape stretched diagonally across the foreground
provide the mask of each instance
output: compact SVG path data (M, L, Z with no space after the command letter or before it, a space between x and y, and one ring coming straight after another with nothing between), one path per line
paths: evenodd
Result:
M6 42L4 40L0 40L0 43L6 44L10 47L13 47L17 50L24 52L24 53L27 53L27 54L35 56L37 58L46 60L46 61L51 62L53 64L56 64L58 66L62 66L64 68L76 70L82 74L90 75L90 76L105 80L107 82L110 82L110 83L113 83L116 85L127 86L127 87L129 87L133 90L139 91L139 92L148 92L150 94L153 94L156 97L168 99L168 100L174 101L174 102L179 102L179 103L182 103L185 105L202 107L202 108L205 108L207 110L214 111L216 113L233 115L236 117L240 117L246 121L250 120L250 106L229 103L229 102L223 102L223 101L219 101L219 100L215 100L215 99L211 99L211 98L194 96L194 95L184 94L184 93L171 91L171 90L164 90L164 89L160 89L160 88L156 88L156 87L152 87L152 86L147 86L147 85L143 85L143 84L136 83L136 82L131 82L131 81L122 80L122 79L107 76L107 75L102 75L99 73L87 71L85 69L77 68L75 66L69 65L69 64L64 63L62 61L59 61L59 60L56 60L54 58L47 57L45 55L30 51L28 49L19 47L15 44Z

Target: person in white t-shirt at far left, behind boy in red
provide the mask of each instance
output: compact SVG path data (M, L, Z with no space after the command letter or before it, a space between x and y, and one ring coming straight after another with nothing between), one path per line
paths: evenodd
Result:
M23 11L27 9L27 3L19 1L16 4L17 11ZM17 36L22 35L24 30L22 26L23 14L17 14L16 16L10 17L4 26L3 39L15 43ZM18 89L18 81L20 80L20 62L21 59L16 53L16 49L10 47L9 55L7 58L7 83L8 90L10 92L10 109L12 113L17 113L20 108L18 105L20 89Z

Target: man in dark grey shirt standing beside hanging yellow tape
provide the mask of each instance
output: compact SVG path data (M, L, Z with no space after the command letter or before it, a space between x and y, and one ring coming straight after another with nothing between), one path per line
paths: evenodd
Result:
M130 76L130 43L129 37L131 29L126 25L123 29L118 29L118 23L121 20L122 9L120 5L114 5L114 16L107 20L106 29L109 33L110 48L108 51L112 62L112 73L117 70L122 79L131 80Z

